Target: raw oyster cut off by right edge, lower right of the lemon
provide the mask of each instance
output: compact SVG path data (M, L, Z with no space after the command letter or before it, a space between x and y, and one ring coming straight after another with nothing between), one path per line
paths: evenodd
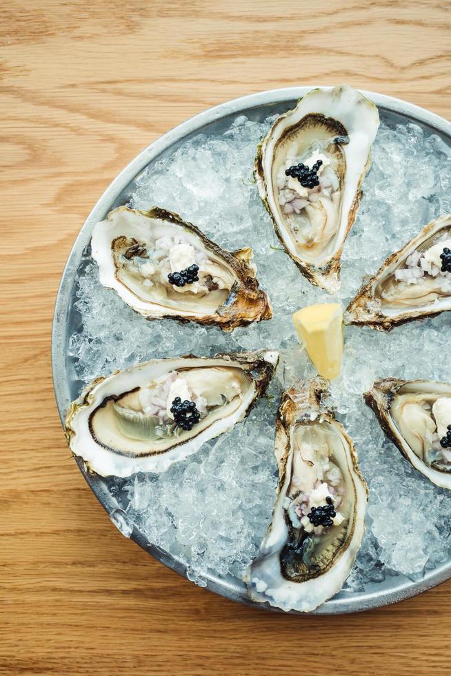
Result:
M451 488L451 385L385 378L363 397L410 464L433 484Z

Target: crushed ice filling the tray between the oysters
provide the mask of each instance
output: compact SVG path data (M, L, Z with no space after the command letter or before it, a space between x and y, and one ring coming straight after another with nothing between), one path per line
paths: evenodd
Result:
M83 324L70 339L80 380L153 357L194 352L277 348L281 363L268 392L250 417L167 473L110 480L110 490L148 540L188 566L205 585L213 572L241 577L270 521L277 467L274 415L282 388L314 375L301 352L291 313L305 304L341 299L347 304L362 278L428 221L451 211L451 149L414 123L381 124L359 217L342 258L336 299L310 286L281 250L252 177L255 148L268 130L237 117L222 134L200 134L157 161L136 179L131 206L157 204L199 225L224 248L250 244L261 285L274 305L272 321L235 330L145 321L99 284L89 258L80 270L76 308ZM112 319L113 318L113 319ZM388 335L346 329L345 359L332 383L338 417L359 451L370 485L363 546L346 589L361 590L393 571L412 578L449 554L451 501L403 460L385 439L361 393L377 377L451 381L449 319L416 322ZM130 526L127 525L129 535Z

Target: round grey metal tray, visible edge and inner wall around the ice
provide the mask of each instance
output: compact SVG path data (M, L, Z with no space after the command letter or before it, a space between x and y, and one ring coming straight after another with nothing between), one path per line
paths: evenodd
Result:
M151 146L145 148L112 181L109 188L103 193L96 206L94 206L88 219L86 219L86 223L72 247L55 304L52 330L52 365L54 392L61 421L66 415L70 401L79 395L79 389L82 385L77 380L72 359L69 356L68 340L72 332L80 326L80 317L73 308L77 288L77 269L81 262L83 250L90 243L94 224L105 218L111 209L128 201L134 178L148 164L170 154L174 148L177 148L186 139L199 132L221 132L233 117L242 113L251 119L261 120L268 115L285 112L285 110L292 108L297 99L305 95L310 89L312 88L296 87L261 92L242 97L241 99L234 99L233 101L228 101L228 103L222 103L221 106L216 106L215 108L210 108L210 110L206 110L200 115L196 115L192 119L183 122L161 137L161 139L152 143ZM439 134L445 141L451 143L451 123L445 119L399 99L374 94L373 92L363 93L377 104L381 119L403 123L405 121L414 121L428 130ZM175 570L184 577L188 577L186 565L182 561L154 546L136 526L128 533L125 515L121 509L120 496L118 498L113 497L108 490L108 481L87 474L81 462L79 462L79 468L94 495L123 533L130 535L139 546L165 564L165 566L172 568L172 570ZM336 597L321 606L316 613L330 615L377 608L419 594L426 589L440 584L449 577L451 577L451 560L446 561L434 570L426 571L423 579L420 581L412 581L403 575L388 575L383 582L368 583L362 593L339 593ZM234 601L270 609L269 606L261 606L260 604L250 602L243 582L237 578L224 578L212 574L207 580L207 588Z

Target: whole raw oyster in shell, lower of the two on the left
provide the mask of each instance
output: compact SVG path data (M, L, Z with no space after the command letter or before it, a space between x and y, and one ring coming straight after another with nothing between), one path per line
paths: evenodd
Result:
M188 355L97 378L68 410L70 450L104 477L163 472L248 415L277 361L264 350Z

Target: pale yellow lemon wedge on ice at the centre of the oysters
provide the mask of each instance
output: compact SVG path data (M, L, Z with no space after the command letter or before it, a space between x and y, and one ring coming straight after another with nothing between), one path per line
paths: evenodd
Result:
M294 312L294 326L308 356L324 378L337 378L343 356L343 310L339 303L310 305Z

